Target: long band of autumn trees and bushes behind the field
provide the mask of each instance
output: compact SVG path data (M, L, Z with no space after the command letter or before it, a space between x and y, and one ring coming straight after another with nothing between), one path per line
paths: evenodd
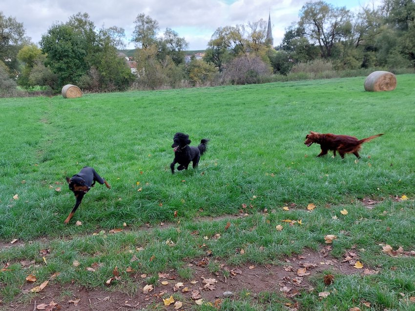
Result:
M383 0L355 14L324 1L307 2L299 15L275 48L261 19L219 27L203 59L185 62L188 42L170 28L159 37L157 20L139 14L130 39L136 46L132 73L119 54L123 28L97 28L87 13L78 13L52 24L38 46L21 22L0 11L0 94L13 96L17 85L59 92L68 83L87 91L260 83L313 62L335 71L414 69L413 0Z

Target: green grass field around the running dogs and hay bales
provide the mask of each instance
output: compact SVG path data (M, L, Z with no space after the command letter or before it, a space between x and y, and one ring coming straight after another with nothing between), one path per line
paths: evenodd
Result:
M365 92L360 77L76 99L1 98L0 240L6 245L16 238L21 245L0 249L0 265L12 267L0 272L0 300L33 298L21 294L28 274L21 260L37 263L30 272L39 282L59 271L57 284L101 288L114 266L149 275L174 269L191 279L185 262L203 257L203 244L229 265L281 264L304 249L318 251L324 236L334 234L334 257L360 250L364 266L379 273L340 274L323 300L316 291L303 291L290 300L301 304L299 310L349 310L362 300L371 303L362 310L414 310L409 298L415 296L415 256L387 256L379 246L415 250L414 77L399 75L394 91L379 93ZM304 145L309 131L359 139L385 135L364 144L360 160L354 155L341 160L316 158L318 145ZM192 145L202 138L210 142L197 169L172 175L176 132L189 134ZM112 189L97 184L65 226L75 198L64 177L83 166L94 167ZM401 201L402 195L409 200ZM363 198L377 204L368 209ZM309 204L316 206L313 211ZM344 209L348 214L340 213ZM241 210L248 215L227 218ZM199 216L224 217L194 222ZM284 219L301 219L302 225L289 226ZM75 225L78 220L82 226ZM160 222L174 226L141 230ZM124 223L123 233L91 234ZM279 224L282 231L275 229ZM204 239L216 233L219 240ZM137 247L144 251L134 251ZM47 264L39 255L44 249L50 250ZM241 249L246 252L235 252ZM132 255L138 260L131 262ZM149 261L151 256L156 259ZM74 270L74 260L83 269ZM91 277L84 268L93 262L104 268ZM124 277L116 289L134 295L139 286ZM156 285L158 279L149 282ZM311 283L317 292L324 288L317 276ZM226 299L220 308L287 310L282 293L267 295L282 300ZM187 310L216 310L211 308Z

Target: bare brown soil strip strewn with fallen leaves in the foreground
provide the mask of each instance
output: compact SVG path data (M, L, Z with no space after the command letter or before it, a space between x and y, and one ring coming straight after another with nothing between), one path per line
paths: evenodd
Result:
M13 302L6 306L1 306L0 303L0 306L7 311L36 311L40 310L39 305L44 306L42 304L48 306L49 311L139 310L151 304L163 305L163 298L180 293L184 297L181 301L183 303L181 310L187 310L187 307L194 305L199 299L220 304L224 299L224 292L231 292L231 299L238 298L241 291L249 292L252 296L259 292L279 292L282 296L292 298L301 291L313 290L311 276L317 275L323 282L322 272L325 270L333 274L364 273L353 267L352 264L358 259L358 255L353 251L344 254L340 260L333 258L330 251L331 246L325 246L318 252L304 250L301 255L283 259L281 265L256 266L248 263L230 267L222 260L212 257L189 259L187 266L194 272L193 280L181 279L174 270L159 273L157 285L148 293L144 293L143 288L147 285L146 280L150 275L131 272L130 277L138 286L138 291L132 296L112 290L116 288L116 283L123 282L123 279L101 289L87 289L75 284L51 284L30 301ZM210 261L215 261L219 265L218 271L212 273L208 270ZM33 287L33 284L27 284L22 291L27 293ZM70 296L67 296L68 293ZM23 297L22 295L15 301Z

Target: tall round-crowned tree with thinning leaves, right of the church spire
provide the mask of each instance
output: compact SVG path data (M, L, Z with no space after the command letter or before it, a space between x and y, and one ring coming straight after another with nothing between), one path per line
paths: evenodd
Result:
M335 42L350 36L352 14L345 7L324 1L307 2L300 11L299 27L311 42L318 43L321 56L330 58Z

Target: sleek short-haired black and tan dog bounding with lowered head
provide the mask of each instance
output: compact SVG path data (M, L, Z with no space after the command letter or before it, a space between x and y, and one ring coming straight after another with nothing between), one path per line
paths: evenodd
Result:
M66 177L66 181L69 184L69 190L72 190L76 197L75 207L72 209L72 212L65 219L64 223L67 224L71 220L72 216L75 214L75 211L82 202L83 196L94 187L95 182L98 181L101 185L104 185L111 189L111 186L98 175L97 172L92 167L85 166L81 172L76 175L73 175L72 178Z

